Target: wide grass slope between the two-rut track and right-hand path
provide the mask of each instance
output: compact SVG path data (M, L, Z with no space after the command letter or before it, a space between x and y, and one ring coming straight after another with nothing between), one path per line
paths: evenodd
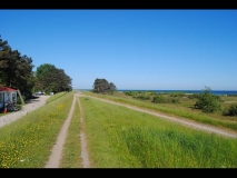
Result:
M80 102L95 168L237 167L237 139L89 97L80 98Z

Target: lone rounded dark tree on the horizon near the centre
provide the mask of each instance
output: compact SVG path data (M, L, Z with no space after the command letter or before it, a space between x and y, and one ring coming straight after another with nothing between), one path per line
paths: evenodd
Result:
M112 82L108 82L106 79L96 79L93 82L93 92L98 93L113 93L116 91L116 86Z

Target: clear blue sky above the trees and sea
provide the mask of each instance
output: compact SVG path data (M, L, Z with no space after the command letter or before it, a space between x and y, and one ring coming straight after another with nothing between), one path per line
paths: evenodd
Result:
M237 90L237 10L0 10L0 34L73 89Z

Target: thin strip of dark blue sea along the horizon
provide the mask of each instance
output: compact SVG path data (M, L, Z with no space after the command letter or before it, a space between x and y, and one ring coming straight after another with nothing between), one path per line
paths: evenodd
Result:
M90 91L91 89L78 89L78 90L86 90L86 91ZM172 93L172 92L185 92L185 93L201 93L203 90L122 90L122 89L117 89L117 91L155 91L157 93ZM210 90L210 92L213 95L216 95L216 96L237 96L237 90Z

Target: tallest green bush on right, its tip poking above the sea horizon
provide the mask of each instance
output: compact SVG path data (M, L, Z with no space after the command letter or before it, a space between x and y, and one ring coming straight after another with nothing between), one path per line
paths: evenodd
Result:
M195 107L201 109L204 112L215 112L220 109L218 96L211 95L211 89L209 87L205 87L203 93L198 97Z

